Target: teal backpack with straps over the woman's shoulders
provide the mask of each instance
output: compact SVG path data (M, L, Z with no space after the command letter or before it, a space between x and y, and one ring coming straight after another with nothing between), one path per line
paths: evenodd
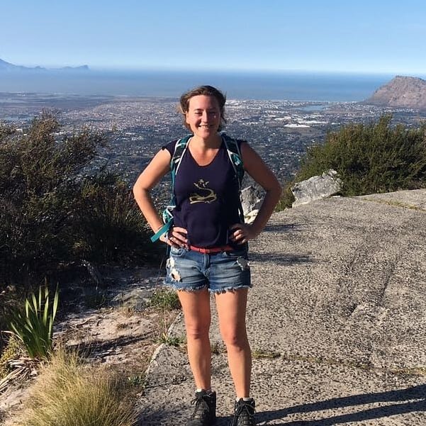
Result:
M176 174L179 171L181 159L184 157L184 153L188 148L189 139L192 136L193 135L186 135L184 138L176 140L176 145L174 146L174 153L172 155L172 159L170 160L170 176L172 178L172 198L170 200L169 205L164 209L162 214L164 225L159 228L159 230L155 232L154 235L152 235L152 242L157 241L159 237L164 234L164 232L167 232L172 227L172 211L176 207L176 201L174 199L174 181L176 179ZM238 179L238 191L239 193L241 193L242 178L244 177L244 167L242 164L242 157L238 142L242 142L242 140L237 141L236 139L232 139L228 135L225 135L225 133L222 133L221 137L223 142L225 143L225 148L228 152L228 157L230 158L230 162ZM241 200L238 206L238 211L240 212L240 219L242 220L242 223L244 223L244 213L242 211Z

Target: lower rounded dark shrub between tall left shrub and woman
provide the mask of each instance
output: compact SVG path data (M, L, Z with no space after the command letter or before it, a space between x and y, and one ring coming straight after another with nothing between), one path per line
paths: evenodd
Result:
M79 258L125 264L155 256L133 193L116 174L102 172L82 181L75 225L73 248Z

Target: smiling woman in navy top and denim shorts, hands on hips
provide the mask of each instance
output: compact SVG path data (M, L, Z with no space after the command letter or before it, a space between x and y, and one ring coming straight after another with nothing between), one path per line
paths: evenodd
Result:
M220 333L237 399L232 425L254 425L250 398L252 357L245 315L251 287L247 241L263 230L281 195L281 186L257 153L238 141L244 169L266 191L256 219L242 223L239 186L223 135L225 96L212 86L183 94L180 111L191 138L181 157L174 182L174 226L160 240L171 246L166 284L177 289L184 313L189 364L196 383L195 410L187 426L215 422L216 395L211 388L210 296L215 296ZM147 165L133 192L154 232L162 220L150 190L170 171L175 142L170 142Z

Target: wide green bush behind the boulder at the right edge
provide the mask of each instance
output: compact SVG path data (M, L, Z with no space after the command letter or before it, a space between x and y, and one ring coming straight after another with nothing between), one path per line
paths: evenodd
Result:
M426 124L391 126L391 116L376 123L349 124L328 133L324 145L310 147L296 181L335 169L342 195L357 196L426 186Z

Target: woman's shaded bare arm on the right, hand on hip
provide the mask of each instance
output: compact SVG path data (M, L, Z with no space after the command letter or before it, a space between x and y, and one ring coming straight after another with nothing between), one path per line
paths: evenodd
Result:
M241 144L241 155L245 171L252 176L257 184L262 186L264 191L266 191L266 195L264 196L262 206L259 208L259 213L257 213L252 224L232 225L231 228L235 229L235 231L231 235L231 240L237 242L237 244L252 240L262 232L271 214L274 212L282 191L281 184L276 179L274 173L271 172L271 169L269 169L267 164L264 163L262 158L259 157L257 152L247 142Z

